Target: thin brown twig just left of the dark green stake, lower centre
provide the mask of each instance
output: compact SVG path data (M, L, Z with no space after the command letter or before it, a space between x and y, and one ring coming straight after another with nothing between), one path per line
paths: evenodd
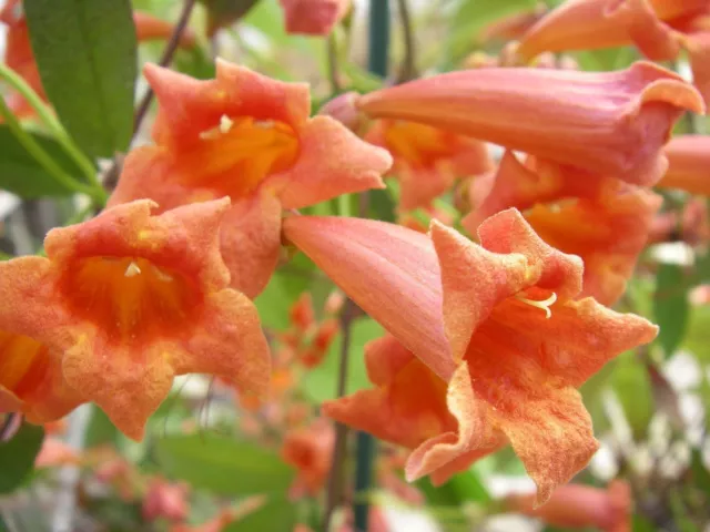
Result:
M337 378L337 397L343 397L347 388L347 367L351 348L351 326L355 317L355 304L347 299L341 314L341 330L343 338L341 344L341 367ZM333 448L333 461L325 500L325 513L323 516L323 532L327 532L331 526L333 511L339 504L343 497L343 466L347 450L347 426L337 423L335 427L335 446Z

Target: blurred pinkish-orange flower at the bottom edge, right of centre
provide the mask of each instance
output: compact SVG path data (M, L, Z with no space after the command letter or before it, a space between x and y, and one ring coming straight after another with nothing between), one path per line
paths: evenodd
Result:
M537 509L534 493L507 497L505 503L511 512L540 519L552 526L631 532L631 489L622 480L611 481L606 490L562 485L547 504Z

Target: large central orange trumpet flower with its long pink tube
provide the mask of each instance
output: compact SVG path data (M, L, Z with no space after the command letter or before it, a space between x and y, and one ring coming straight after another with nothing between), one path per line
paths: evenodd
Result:
M434 480L442 481L468 467L471 457L510 442L538 484L538 501L545 502L586 466L598 446L576 388L618 354L651 341L658 328L592 298L578 300L581 260L545 244L516 209L480 224L480 245L436 222L430 239L383 225L294 216L285 221L284 231L448 385L446 403L457 429L415 449L407 478L438 470ZM337 235L336 245L331 234ZM439 344L442 328L445 346ZM400 362L397 367L404 370ZM385 382L384 377L375 380ZM396 380L385 383L394 389ZM423 380L404 378L404 388L418 390ZM393 401L386 391L378 397ZM347 400L349 408L357 407ZM426 401L427 408L434 403ZM334 407L328 408L333 413ZM378 410L367 411L372 418ZM416 433L422 423L409 427Z

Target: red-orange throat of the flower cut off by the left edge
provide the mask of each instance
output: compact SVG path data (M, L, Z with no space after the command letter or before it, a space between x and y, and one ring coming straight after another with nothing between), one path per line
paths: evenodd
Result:
M0 330L0 387L23 399L44 379L48 354L32 338Z

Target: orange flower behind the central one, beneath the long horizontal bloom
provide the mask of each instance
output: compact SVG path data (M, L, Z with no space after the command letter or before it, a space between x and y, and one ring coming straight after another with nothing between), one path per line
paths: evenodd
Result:
M662 198L611 177L528 157L521 164L507 152L480 197L471 186L473 212L463 221L471 234L488 216L509 207L523 212L535 232L557 249L585 262L581 297L612 305L623 294L646 246ZM480 181L480 180L479 180Z

